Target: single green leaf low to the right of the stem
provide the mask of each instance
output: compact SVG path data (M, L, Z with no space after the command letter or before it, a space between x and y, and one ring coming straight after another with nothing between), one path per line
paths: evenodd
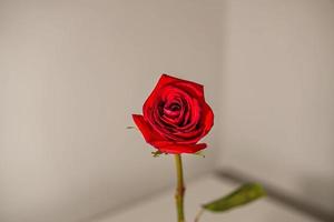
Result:
M246 183L230 194L204 204L203 208L212 212L224 212L255 201L264 195L266 195L266 192L261 184Z

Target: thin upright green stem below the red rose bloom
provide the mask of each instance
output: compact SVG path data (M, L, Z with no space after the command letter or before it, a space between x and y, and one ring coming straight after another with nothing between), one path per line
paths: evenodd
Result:
M184 214L184 195L185 195L185 183L183 172L183 160L180 154L175 154L176 172L177 172L177 188L175 193L176 210L178 222L185 222Z

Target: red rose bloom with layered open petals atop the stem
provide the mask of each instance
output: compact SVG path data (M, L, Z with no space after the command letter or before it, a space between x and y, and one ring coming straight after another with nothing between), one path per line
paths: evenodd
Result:
M163 74L143 107L132 114L146 142L164 153L195 153L214 124L202 84Z

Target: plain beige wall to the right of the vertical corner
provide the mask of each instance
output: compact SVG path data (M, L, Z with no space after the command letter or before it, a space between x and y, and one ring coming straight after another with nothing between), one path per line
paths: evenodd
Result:
M220 167L334 211L334 1L230 0Z

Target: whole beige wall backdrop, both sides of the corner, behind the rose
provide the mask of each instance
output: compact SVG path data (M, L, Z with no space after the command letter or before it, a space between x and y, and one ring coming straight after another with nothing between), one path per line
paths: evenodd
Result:
M331 0L0 1L0 221L87 221L174 183L126 130L161 72L206 85L206 158L334 211Z

